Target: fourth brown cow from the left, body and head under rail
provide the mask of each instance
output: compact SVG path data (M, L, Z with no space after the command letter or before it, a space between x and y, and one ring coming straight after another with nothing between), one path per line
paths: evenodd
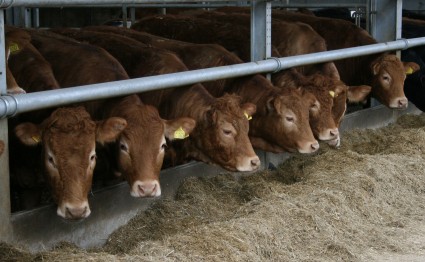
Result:
M121 27L91 26L83 29L125 35L147 45L171 50L191 70L243 63L236 55L216 44L192 44ZM309 110L319 108L311 94L295 89L281 91L259 74L208 81L203 85L215 97L234 93L245 102L255 102L257 112L250 121L249 129L254 148L275 153L313 153L318 149L319 144L308 123Z

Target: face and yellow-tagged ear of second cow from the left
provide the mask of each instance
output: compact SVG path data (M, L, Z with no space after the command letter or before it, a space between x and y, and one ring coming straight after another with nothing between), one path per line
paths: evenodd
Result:
M161 195L159 175L164 160L166 138L184 139L195 128L191 118L164 120L156 108L134 105L121 111L128 127L119 138L118 166L130 185L133 197Z

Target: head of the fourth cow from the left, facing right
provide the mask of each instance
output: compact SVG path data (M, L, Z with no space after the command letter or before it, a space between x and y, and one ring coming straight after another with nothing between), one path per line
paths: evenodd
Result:
M258 103L257 103L258 105ZM309 124L309 113L320 107L317 99L302 89L285 88L267 96L250 123L253 146L271 152L313 153L319 149ZM257 144L253 137L265 141ZM274 146L269 147L269 144ZM279 148L276 148L278 146Z

